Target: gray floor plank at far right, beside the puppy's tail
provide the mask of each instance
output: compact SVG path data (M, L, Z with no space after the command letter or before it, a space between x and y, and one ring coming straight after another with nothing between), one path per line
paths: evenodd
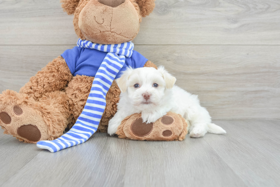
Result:
M275 123L277 125L275 125ZM280 121L217 121L226 136L206 134L203 139L247 186L279 186Z

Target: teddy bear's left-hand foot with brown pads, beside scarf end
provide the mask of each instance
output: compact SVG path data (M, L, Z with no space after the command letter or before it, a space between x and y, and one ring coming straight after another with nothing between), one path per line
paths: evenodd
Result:
M5 134L29 143L46 138L46 124L31 108L32 103L35 103L35 100L15 91L7 90L0 94L0 126L5 130Z

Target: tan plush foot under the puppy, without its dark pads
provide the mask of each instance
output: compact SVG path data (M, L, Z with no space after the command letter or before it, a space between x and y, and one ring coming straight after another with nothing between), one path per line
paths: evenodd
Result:
M132 130L131 125L133 122L139 118L141 118L141 114L132 114L127 116L118 127L117 135L119 138L127 138L133 140L165 140L165 141L173 141L179 140L182 141L185 139L187 132L187 122L180 115L173 112L168 112L165 116L171 116L174 121L170 125L165 125L161 122L162 118L159 118L156 122L153 123L153 128L151 132L146 136L136 136ZM163 131L170 130L172 132L171 136L163 136Z

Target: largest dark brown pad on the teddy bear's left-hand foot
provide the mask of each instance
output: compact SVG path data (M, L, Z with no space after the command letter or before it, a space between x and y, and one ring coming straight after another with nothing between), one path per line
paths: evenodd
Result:
M22 125L17 129L17 134L31 142L37 142L41 138L41 132L35 125Z

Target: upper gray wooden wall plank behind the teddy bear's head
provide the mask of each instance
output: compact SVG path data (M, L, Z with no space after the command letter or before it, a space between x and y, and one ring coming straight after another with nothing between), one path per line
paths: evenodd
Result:
M59 0L1 1L0 45L75 45ZM278 0L156 0L135 44L280 45Z

